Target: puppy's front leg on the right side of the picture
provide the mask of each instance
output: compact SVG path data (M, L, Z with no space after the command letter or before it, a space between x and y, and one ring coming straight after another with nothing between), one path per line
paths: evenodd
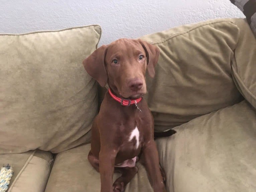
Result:
M145 167L154 192L165 192L155 141L150 140L147 142L142 150Z

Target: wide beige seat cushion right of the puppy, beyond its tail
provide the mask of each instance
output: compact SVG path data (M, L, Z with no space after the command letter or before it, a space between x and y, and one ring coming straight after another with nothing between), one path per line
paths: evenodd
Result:
M256 111L242 101L156 141L169 192L255 192Z

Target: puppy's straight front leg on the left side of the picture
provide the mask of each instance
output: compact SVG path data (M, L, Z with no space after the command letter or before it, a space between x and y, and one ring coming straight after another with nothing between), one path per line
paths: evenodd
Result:
M101 192L113 192L112 181L117 151L101 148L99 154Z

